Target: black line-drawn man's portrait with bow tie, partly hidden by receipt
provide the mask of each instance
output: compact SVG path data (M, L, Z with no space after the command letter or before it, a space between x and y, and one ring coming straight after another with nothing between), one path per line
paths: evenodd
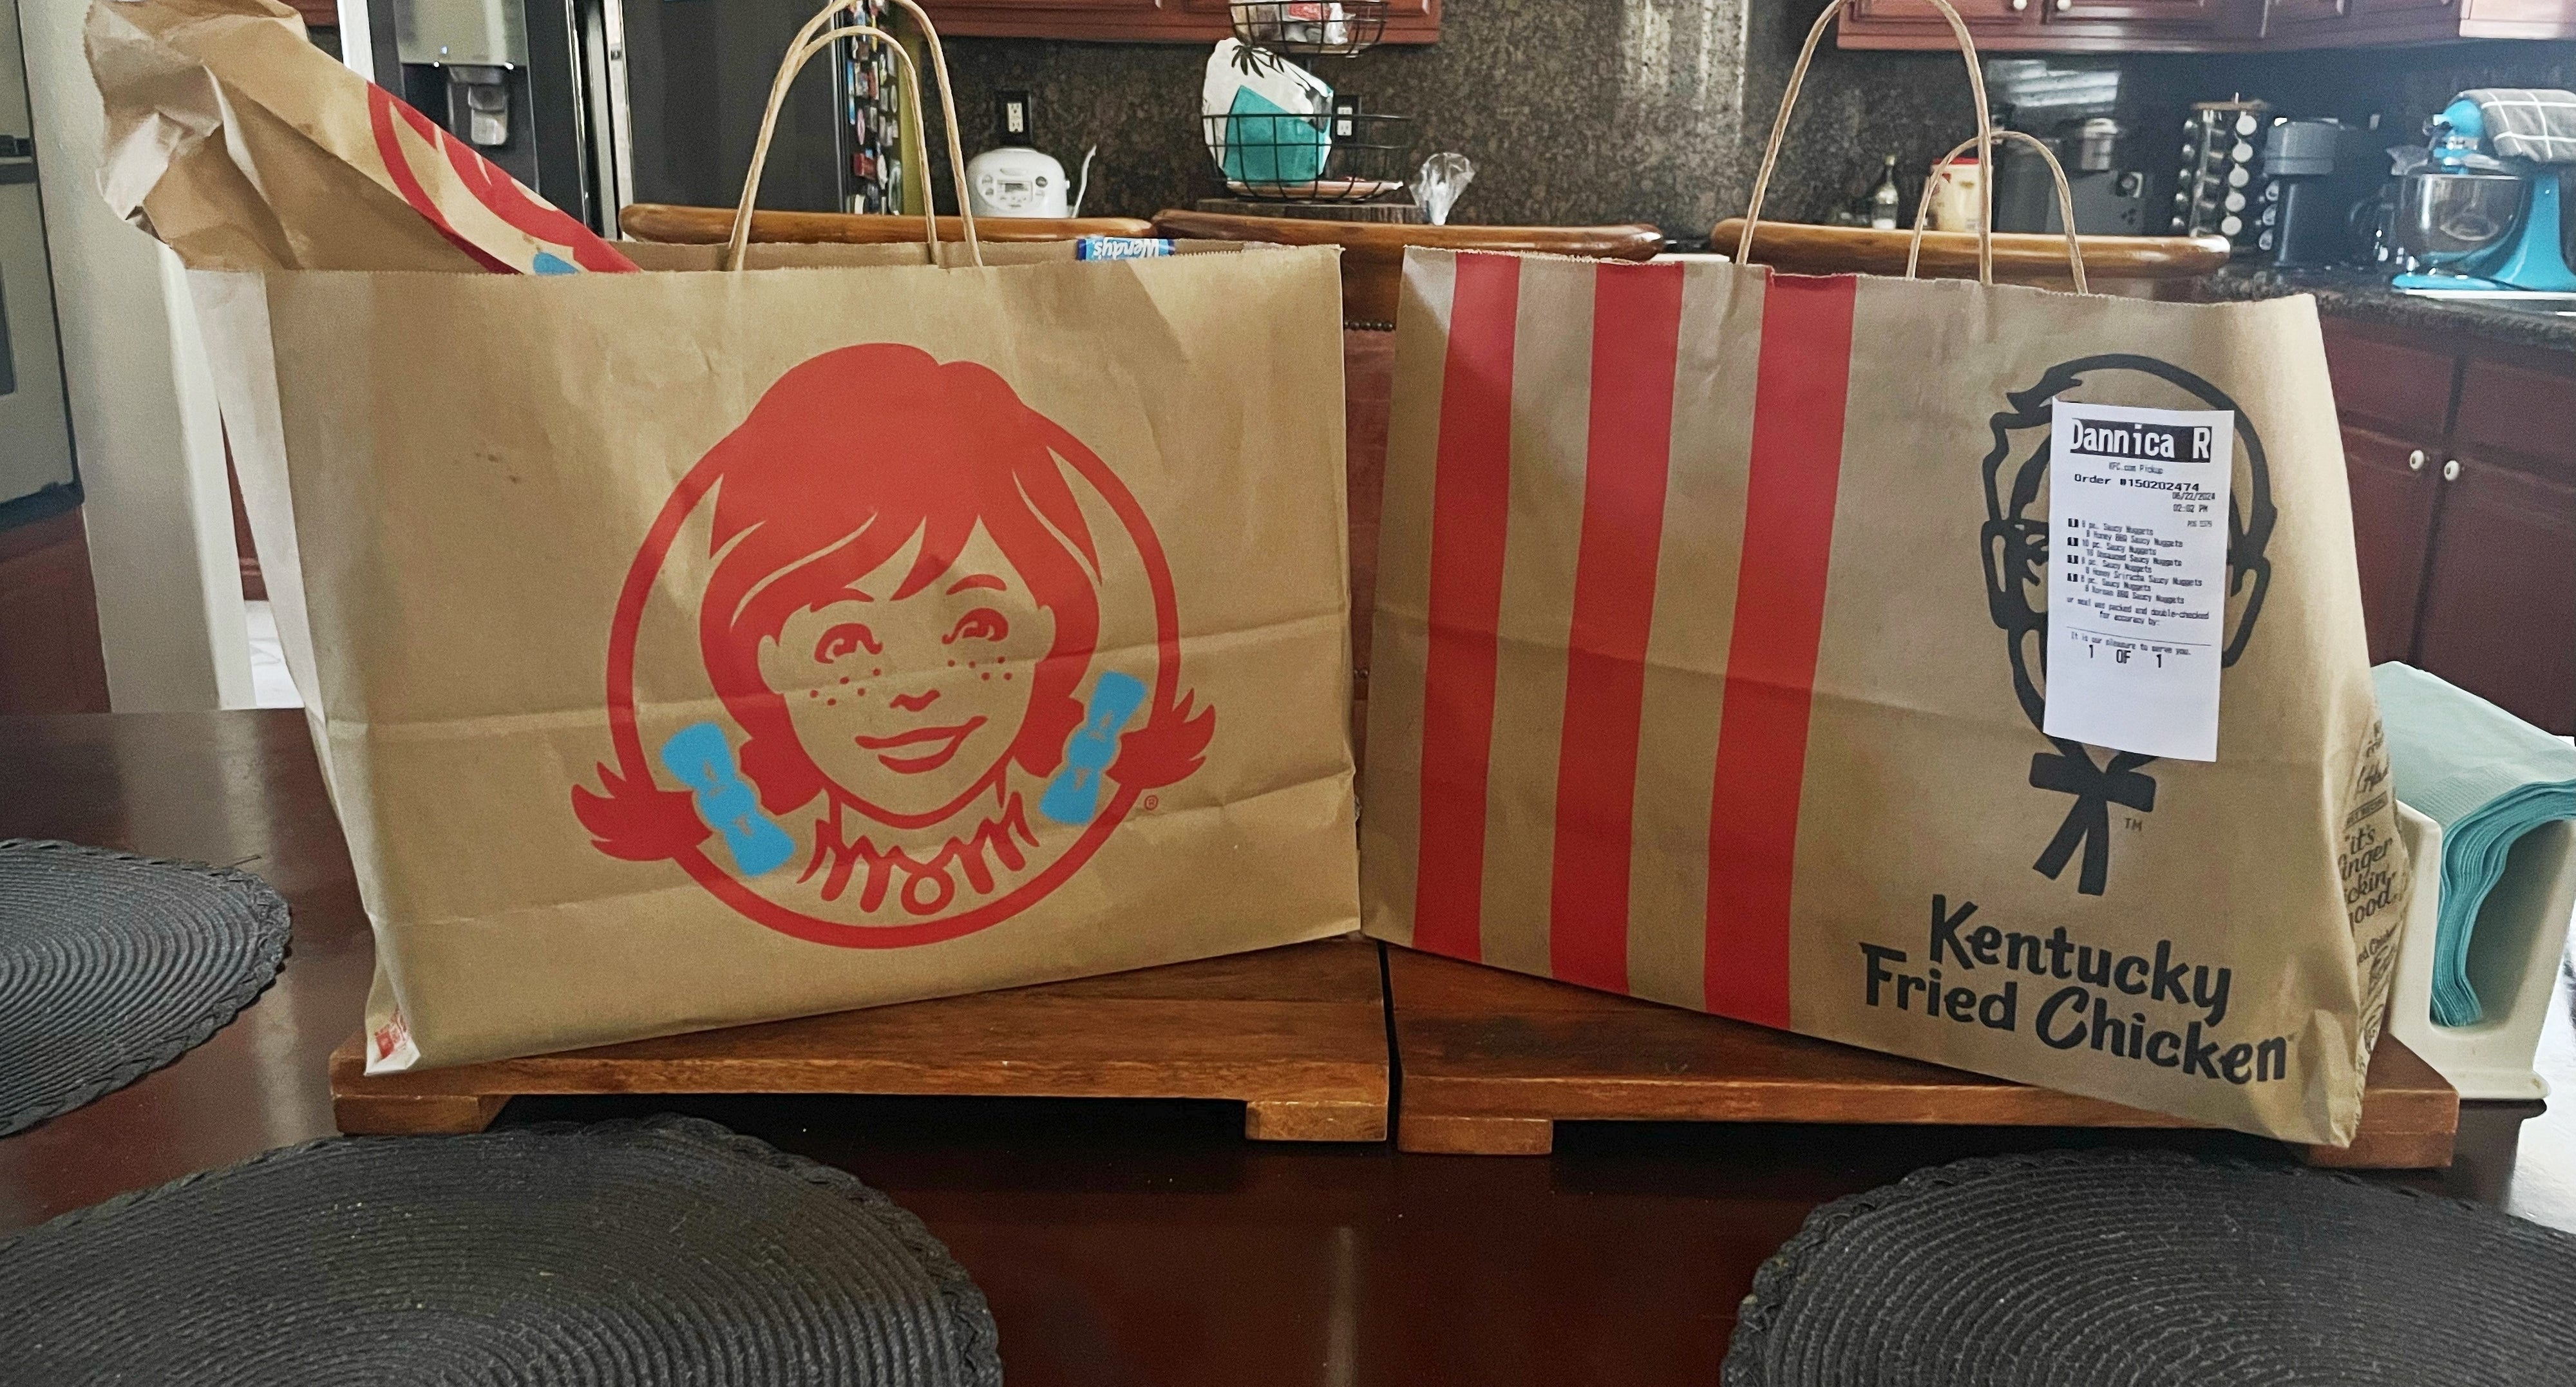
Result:
M1994 451L1984 464L1986 611L2004 632L2012 691L2030 727L2043 727L2048 717L2048 423L2050 402L2061 394L2099 405L2236 412L2236 477L2228 485L2228 642L2221 668L2233 665L2254 639L2254 619L2262 616L2262 598L2272 588L2272 559L2264 557L2277 521L2272 469L2244 410L2210 382L2151 356L2087 356L2050 366L2030 389L2004 394L2012 407L1994 415ZM2076 848L2084 848L2076 892L2102 895L2110 882L2110 807L2123 804L2141 815L2156 807L2156 781L2141 771L2156 758L2112 750L2107 761L2094 761L2081 742L2066 737L2048 742L2058 750L2030 758L2030 784L2071 794L2074 804L2032 869L2056 879Z

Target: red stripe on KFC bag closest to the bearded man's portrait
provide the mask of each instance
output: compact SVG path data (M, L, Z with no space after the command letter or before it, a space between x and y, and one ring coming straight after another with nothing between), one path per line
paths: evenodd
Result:
M1708 1011L1788 1026L1798 791L1842 480L1857 278L1772 276L1708 807Z

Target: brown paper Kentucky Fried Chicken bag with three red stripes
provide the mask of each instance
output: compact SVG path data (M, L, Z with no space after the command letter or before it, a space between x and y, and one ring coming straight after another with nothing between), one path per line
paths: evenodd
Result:
M2215 761L2043 735L2058 402L2233 412ZM2349 1142L2409 882L2311 299L1414 250L1373 637L1370 933Z

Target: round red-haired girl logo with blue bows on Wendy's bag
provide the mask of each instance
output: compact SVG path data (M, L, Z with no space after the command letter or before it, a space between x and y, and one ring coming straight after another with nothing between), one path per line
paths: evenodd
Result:
M608 730L616 768L572 791L603 853L889 949L1046 897L1198 768L1216 709L1180 694L1172 572L1118 477L984 366L853 345L662 505Z

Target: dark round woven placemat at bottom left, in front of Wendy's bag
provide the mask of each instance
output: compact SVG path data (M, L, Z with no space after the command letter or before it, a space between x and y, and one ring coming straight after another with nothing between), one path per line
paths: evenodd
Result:
M711 1121L332 1137L0 1243L0 1382L997 1387L884 1194Z

